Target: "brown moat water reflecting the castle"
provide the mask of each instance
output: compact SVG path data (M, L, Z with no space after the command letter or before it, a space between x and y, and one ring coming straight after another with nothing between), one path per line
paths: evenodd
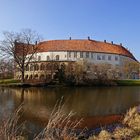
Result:
M57 87L0 88L0 118L24 103L22 119L34 134L41 130L56 102L63 97L64 111L75 117L94 118L124 114L140 104L140 86L133 87ZM90 127L92 127L90 121ZM97 118L96 118L97 121ZM98 122L99 123L99 122ZM102 125L102 124L99 124Z

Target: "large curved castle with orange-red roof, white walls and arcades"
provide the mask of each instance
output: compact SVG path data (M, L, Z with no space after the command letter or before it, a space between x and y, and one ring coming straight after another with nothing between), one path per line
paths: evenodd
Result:
M110 64L121 69L121 79L126 79L122 69L138 63L133 54L122 44L91 40L50 40L38 43L38 51L26 68L26 79L48 79L53 75L53 69L60 64L86 61L89 64ZM29 54L30 55L30 54ZM20 72L16 71L15 78L20 79ZM139 78L139 72L131 68L131 79Z

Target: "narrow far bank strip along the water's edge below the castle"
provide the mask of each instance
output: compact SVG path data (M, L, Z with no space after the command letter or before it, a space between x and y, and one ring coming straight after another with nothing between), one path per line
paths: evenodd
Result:
M108 81L107 81L108 82ZM79 83L79 84L59 84L59 83L20 83L20 82L0 82L0 87L94 87L94 86L140 86L140 80L112 80L105 83Z

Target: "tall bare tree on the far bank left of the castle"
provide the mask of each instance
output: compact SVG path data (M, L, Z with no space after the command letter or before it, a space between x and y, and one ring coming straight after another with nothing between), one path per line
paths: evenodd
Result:
M1 41L0 50L4 58L13 58L15 67L21 73L21 81L25 82L25 70L33 59L39 47L37 42L40 36L31 29L20 32L3 32L4 40Z

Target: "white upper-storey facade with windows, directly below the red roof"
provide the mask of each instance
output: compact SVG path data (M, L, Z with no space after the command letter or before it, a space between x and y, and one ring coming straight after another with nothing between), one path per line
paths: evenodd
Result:
M76 51L50 51L36 53L32 61L79 61L98 64L108 63L111 65L121 65L124 60L135 61L127 56L109 53L76 52Z

